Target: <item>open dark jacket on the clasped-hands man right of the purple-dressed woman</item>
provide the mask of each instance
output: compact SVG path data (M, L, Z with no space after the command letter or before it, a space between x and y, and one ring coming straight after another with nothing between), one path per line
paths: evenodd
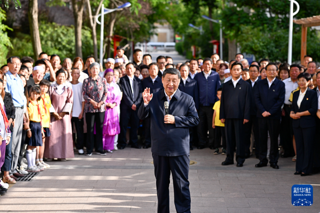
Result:
M136 105L136 108L139 108L142 102L141 80L136 76L133 77L132 88L133 88L134 98L132 98L130 80L127 75L120 78L120 84L122 86L122 99L120 103L120 108L122 109L131 108L133 103Z

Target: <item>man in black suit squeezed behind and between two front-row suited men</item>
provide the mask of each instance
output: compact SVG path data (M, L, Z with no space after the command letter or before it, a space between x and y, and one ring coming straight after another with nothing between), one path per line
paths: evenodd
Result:
M259 156L259 127L258 127L258 120L256 118L256 104L255 104L255 97L254 91L256 90L257 82L259 79L259 67L257 65L251 64L249 66L249 76L250 79L247 79L251 85L251 106L250 106L250 119L249 122L244 124L245 128L245 158L248 158L251 155L250 145L251 145L251 132L253 128L253 136L254 136L254 143L255 143L255 156L258 158Z

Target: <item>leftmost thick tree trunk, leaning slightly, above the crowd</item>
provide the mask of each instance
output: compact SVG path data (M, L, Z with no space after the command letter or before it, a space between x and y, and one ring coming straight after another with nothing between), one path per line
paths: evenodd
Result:
M38 26L38 1L29 0L28 18L30 25L31 41L34 59L36 60L42 52L41 40Z

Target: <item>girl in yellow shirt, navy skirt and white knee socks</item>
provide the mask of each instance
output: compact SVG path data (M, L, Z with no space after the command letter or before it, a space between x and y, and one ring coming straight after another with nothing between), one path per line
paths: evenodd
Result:
M26 161L28 164L26 168L27 172L40 171L40 169L35 165L36 147L42 146L42 136L44 136L43 128L41 126L44 109L39 101L40 95L40 88L37 86L32 86L30 89L29 101L27 103L27 110L30 120L30 128L26 130L26 135L30 138L25 151Z

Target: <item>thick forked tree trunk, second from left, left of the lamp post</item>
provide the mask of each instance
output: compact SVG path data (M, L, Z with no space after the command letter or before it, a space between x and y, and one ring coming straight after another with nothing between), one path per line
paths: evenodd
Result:
M74 35L75 35L75 56L82 58L82 14L85 0L72 0L73 17L74 17Z

